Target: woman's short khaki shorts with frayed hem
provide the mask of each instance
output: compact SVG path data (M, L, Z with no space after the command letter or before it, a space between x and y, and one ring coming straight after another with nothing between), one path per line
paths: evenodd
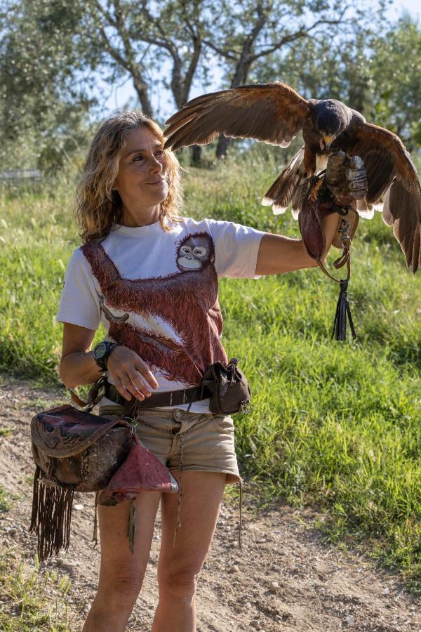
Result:
M100 415L121 416L119 404L100 405ZM180 408L140 411L136 428L142 444L169 470L222 472L225 485L240 482L232 417Z

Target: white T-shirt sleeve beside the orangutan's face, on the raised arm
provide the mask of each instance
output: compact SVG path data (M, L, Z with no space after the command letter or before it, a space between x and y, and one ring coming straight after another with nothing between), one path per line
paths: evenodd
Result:
M208 220L208 224L215 244L218 277L259 278L255 272L265 232L234 222Z

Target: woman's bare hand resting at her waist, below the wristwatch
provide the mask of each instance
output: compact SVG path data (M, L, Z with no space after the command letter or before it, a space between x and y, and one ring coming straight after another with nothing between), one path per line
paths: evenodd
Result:
M107 371L114 386L125 400L145 400L152 395L151 389L158 388L158 383L146 362L140 355L128 347L114 347L107 359Z

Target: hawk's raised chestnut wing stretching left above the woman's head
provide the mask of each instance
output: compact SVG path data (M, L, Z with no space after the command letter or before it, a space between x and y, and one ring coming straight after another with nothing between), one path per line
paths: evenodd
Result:
M165 147L206 145L223 133L288 146L309 115L305 98L286 84L253 84L196 97L166 121Z

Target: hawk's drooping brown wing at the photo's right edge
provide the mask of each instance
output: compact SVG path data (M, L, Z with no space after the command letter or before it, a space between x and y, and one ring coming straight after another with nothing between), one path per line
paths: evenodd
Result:
M405 253L406 265L415 272L421 265L421 185L401 139L387 129L362 123L355 126L343 148L364 161L367 202L377 202L386 194L385 211L392 216L394 235Z

